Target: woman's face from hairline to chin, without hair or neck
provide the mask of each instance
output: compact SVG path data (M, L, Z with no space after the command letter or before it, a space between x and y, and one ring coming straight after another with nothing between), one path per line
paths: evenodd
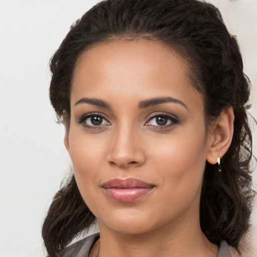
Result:
M181 229L199 219L210 144L186 71L157 41L101 43L80 56L65 145L100 230Z

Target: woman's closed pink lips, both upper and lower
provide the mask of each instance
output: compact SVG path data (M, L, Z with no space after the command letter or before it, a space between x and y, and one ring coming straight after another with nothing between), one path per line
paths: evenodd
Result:
M101 187L108 197L117 202L133 202L149 194L155 185L134 178L116 178L104 182Z

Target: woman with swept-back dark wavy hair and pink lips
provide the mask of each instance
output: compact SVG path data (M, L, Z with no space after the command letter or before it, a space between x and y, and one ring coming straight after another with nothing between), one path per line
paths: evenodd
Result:
M107 0L78 20L51 61L74 175L43 225L48 254L240 253L253 198L242 69L219 11L196 0Z

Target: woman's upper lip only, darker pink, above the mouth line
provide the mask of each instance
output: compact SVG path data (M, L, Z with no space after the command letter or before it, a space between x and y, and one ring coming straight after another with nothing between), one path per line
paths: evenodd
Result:
M111 179L101 185L103 188L151 188L154 184L147 183L143 180L127 178L127 179Z

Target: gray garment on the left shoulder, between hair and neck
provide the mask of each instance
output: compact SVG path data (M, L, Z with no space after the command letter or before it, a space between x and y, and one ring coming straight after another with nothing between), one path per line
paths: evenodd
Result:
M60 252L61 257L87 257L89 252L96 242L96 240L100 237L99 233L91 234L86 238L83 238L71 245L67 248L63 249Z

